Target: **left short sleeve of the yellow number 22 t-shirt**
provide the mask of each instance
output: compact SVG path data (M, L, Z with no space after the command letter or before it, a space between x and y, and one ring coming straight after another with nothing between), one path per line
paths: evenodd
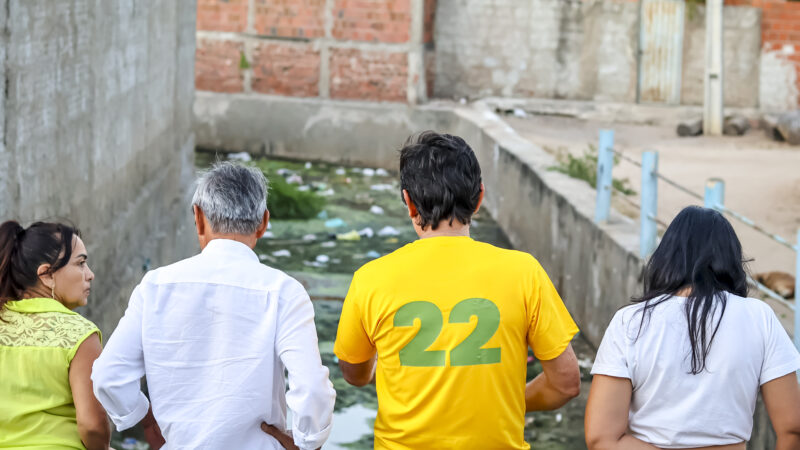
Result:
M350 364L363 363L375 355L375 345L364 329L364 317L359 307L361 301L363 298L358 289L358 276L354 276L344 299L336 343L333 346L336 357Z

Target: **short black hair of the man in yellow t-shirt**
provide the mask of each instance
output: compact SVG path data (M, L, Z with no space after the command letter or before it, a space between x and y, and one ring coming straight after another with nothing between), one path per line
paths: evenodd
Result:
M480 201L481 168L460 137L425 131L400 150L400 187L417 207L423 230L443 220L467 225Z

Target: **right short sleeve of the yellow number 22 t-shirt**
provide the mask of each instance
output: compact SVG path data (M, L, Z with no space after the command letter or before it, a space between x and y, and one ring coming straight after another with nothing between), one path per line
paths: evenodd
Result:
M537 359L554 359L567 349L579 330L538 262L535 262L533 292L528 302L532 312L528 325L528 345Z

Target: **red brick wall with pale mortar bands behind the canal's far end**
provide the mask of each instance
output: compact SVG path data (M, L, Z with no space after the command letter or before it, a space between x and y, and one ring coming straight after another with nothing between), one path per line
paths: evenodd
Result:
M435 0L199 0L198 90L428 97Z

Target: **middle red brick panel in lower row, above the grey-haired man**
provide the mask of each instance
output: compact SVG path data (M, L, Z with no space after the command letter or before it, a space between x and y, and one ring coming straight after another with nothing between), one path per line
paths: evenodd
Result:
M311 44L262 43L253 49L252 87L263 94L319 95L320 53Z

